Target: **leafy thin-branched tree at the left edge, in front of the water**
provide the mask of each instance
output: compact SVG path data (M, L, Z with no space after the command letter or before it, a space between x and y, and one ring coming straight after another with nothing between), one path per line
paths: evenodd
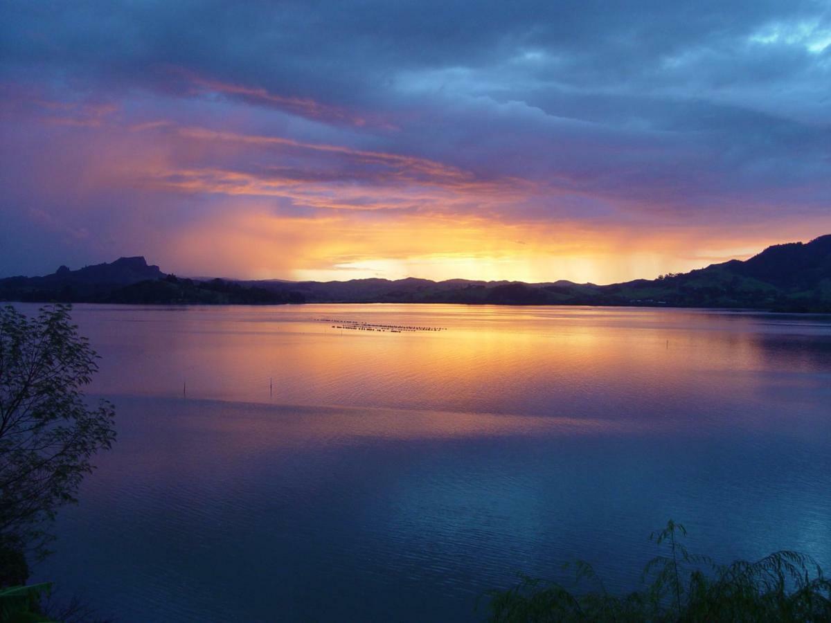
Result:
M116 437L112 405L85 400L97 356L70 310L43 307L30 318L0 309L0 567L14 552L47 553L48 524L76 502L92 456ZM15 577L0 577L8 583Z

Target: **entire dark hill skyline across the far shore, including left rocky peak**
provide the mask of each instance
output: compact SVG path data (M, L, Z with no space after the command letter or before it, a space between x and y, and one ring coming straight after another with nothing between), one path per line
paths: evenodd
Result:
M346 282L182 279L145 258L120 258L45 277L0 279L0 300L277 304L299 302L466 303L744 307L831 313L831 235L779 244L745 261L730 260L657 279L597 286L568 281L524 283L450 279L352 279Z

